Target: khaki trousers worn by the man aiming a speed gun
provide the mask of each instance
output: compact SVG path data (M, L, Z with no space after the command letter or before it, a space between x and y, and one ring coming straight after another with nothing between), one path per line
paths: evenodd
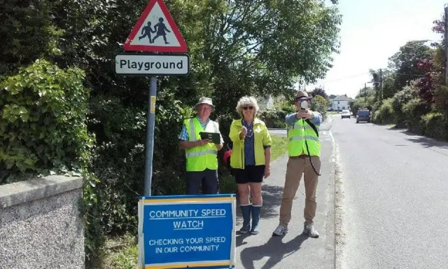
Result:
M318 156L311 156L316 171L321 172L321 159ZM293 207L293 199L297 189L299 188L300 179L304 174L305 187L305 208L303 211L304 219L313 222L316 216L316 187L318 175L314 172L308 157L290 157L286 167L286 180L283 188L283 198L280 207L280 225L285 227L291 219L291 209Z

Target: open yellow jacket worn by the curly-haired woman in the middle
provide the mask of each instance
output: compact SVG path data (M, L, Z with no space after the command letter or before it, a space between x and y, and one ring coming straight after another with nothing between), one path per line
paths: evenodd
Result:
M244 169L244 139L239 138L241 128L243 127L242 119L233 120L230 125L229 137L233 142L232 156L230 157L230 166L236 169ZM253 137L255 151L255 165L265 165L265 146L272 145L272 139L267 131L267 127L262 120L255 118L253 120Z

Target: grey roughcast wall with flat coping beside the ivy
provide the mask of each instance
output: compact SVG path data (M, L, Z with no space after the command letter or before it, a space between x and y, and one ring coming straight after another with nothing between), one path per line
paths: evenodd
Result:
M84 268L83 179L0 186L0 269Z

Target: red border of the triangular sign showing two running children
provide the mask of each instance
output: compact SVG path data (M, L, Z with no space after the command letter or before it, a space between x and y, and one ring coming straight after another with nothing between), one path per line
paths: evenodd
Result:
M148 18L149 13L153 10L155 4L159 4L160 9L162 10L163 15L167 19L169 27L171 27L174 36L176 36L177 41L180 46L153 46L153 45L131 45L131 42L134 40L135 36L139 33L141 25L144 24L146 18ZM131 33L127 36L125 44L123 48L127 51L148 51L148 52L156 52L156 53L186 53L188 50L187 43L179 31L179 28L174 22L172 15L169 13L167 6L162 0L151 0L148 5L144 9L143 13L141 13L139 20L135 24L134 28L132 28Z

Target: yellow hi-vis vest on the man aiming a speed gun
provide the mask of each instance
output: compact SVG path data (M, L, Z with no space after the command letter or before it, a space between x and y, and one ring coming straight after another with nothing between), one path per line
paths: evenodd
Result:
M316 124L318 130L319 125ZM307 140L308 149L305 144ZM288 156L295 157L306 154L309 156L321 156L321 142L311 125L303 119L297 120L293 126L288 127Z

